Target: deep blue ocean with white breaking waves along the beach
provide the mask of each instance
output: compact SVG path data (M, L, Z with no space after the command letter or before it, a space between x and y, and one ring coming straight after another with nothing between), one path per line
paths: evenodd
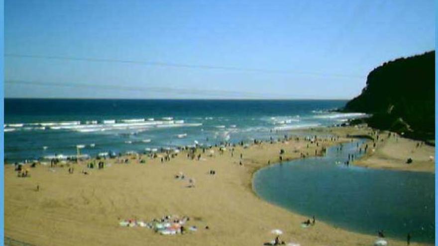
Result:
M340 124L345 100L5 99L6 162L277 138Z

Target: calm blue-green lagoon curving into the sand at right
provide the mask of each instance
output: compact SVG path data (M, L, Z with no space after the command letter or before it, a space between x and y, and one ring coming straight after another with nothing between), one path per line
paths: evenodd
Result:
M260 169L253 189L269 202L316 216L316 226L322 220L376 236L383 230L387 237L406 240L410 233L412 241L435 242L435 174L344 165L348 154L360 157L356 146L363 141Z

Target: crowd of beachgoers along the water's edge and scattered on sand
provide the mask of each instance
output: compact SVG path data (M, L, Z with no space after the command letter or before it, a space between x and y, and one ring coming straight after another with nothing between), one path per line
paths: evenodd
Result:
M177 163L180 163L182 160L186 160L186 162L193 163L202 163L208 162L209 160L218 160L220 157L224 157L224 160L228 160L235 166L251 166L254 165L254 155L257 156L257 160L261 157L265 156L264 164L258 165L257 168L260 168L264 165L282 163L292 160L293 158L309 158L315 156L324 155L327 148L331 145L338 144L338 149L342 148L342 143L353 141L351 137L353 135L346 135L346 137L340 137L337 134L336 128L334 131L324 130L324 134L318 133L319 130L314 131L311 129L309 134L307 135L284 135L283 138L278 139L269 139L269 140L257 140L254 139L251 142L239 142L239 143L228 143L223 142L217 145L212 146L185 146L180 147L174 150L169 149L161 149L157 152L149 152L149 153L124 153L117 154L115 156L97 156L92 159L72 159L72 160L59 160L53 158L50 160L50 164L42 164L40 162L30 162L30 163L15 163L14 170L19 177L33 178L33 168L37 168L39 166L46 166L50 170L50 172L59 173L63 172L63 170L68 169L68 174L80 173L83 175L90 175L95 172L105 171L108 168L112 168L116 166L129 165L130 164L138 164L138 166L148 164L161 164L163 166L167 166L169 164L173 164L174 160L177 160ZM362 134L365 132L369 137L369 141L365 142L363 145L357 145L360 153L363 153L364 156L370 156L376 152L379 145L381 145L384 141L388 141L388 139L393 139L394 141L398 141L401 136L397 136L395 134L387 134L383 135L378 131L364 128L362 129ZM386 134L386 133L385 133ZM255 151L257 148L268 148L269 146L273 147L275 151L265 152ZM422 144L418 143L417 148L422 148ZM246 157L246 151L252 150L251 158ZM353 155L348 155L347 160L345 160L344 165L353 164L356 161L356 157ZM259 161L257 161L259 162ZM415 162L415 159L414 159ZM412 159L407 163L412 163ZM64 169L65 168L65 169ZM76 171L79 169L80 171ZM251 169L254 172L255 169ZM207 172L207 175L217 176L221 175L222 172L219 172L215 166L211 166ZM120 174L122 175L122 174ZM174 174L169 174L172 176L174 180L182 180L184 182L184 187L187 188L195 188L197 189L198 183L195 181L195 175L187 174L185 171L174 172ZM198 176L199 177L199 176ZM38 192L46 189L46 185L42 183L33 183L35 190ZM214 192L213 190L211 192ZM238 199L238 198L235 198ZM157 210L157 208L154 208ZM162 211L163 213L167 213L166 211ZM133 219L120 219L118 218L119 226L121 227L144 227L149 228L161 235L177 235L177 234L187 234L197 232L201 229L203 230L212 230L211 225L188 225L190 221L189 216L175 216L175 215L165 215L159 219L153 219L149 221L140 220L137 218ZM307 219L300 222L302 228L312 228L316 226L315 217L311 219ZM212 226L214 226L212 224ZM213 227L215 228L215 227ZM213 229L214 230L214 229ZM299 246L300 243L297 243L297 240L286 240L290 242L283 241L285 235L282 230L276 231L273 230L273 234L275 235L274 240L265 242L264 245L289 245L289 246ZM379 239L377 239L374 243L375 245L386 245L387 241L383 238L382 235L378 235ZM410 236L409 236L410 240ZM408 241L409 241L408 240ZM260 242L262 244L262 242Z

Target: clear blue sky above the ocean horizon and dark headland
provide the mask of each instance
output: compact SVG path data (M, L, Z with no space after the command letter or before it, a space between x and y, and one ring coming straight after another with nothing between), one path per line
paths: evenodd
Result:
M5 0L5 97L351 98L434 0Z

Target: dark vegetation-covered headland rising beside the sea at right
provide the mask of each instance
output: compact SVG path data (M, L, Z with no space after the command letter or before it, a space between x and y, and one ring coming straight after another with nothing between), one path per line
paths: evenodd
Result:
M435 138L435 51L384 63L369 73L362 93L344 107L372 114L374 128Z

